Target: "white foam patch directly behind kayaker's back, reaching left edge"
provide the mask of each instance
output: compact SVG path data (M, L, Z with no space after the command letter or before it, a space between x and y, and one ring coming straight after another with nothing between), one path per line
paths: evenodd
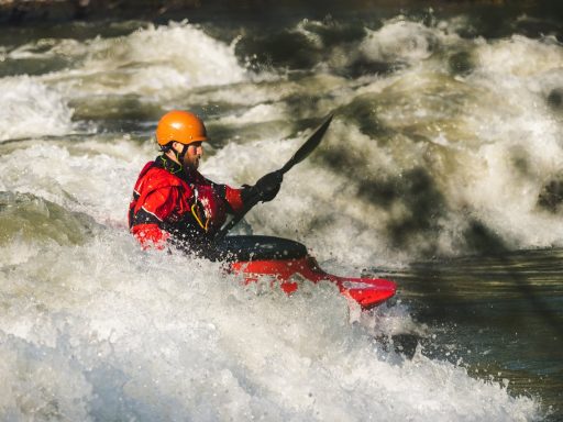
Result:
M136 175L152 157L128 141L118 144L93 148L82 143L69 148L36 142L15 149L0 164L0 190L32 193L103 224L124 226ZM133 158L123 160L125 152Z

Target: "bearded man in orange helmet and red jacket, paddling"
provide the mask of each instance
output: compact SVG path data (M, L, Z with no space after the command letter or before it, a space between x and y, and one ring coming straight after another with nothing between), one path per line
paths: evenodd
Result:
M143 248L174 245L216 258L213 236L227 214L279 191L283 176L276 171L240 189L203 177L198 167L207 141L203 122L191 112L174 110L159 120L162 153L141 170L129 206L129 227Z

